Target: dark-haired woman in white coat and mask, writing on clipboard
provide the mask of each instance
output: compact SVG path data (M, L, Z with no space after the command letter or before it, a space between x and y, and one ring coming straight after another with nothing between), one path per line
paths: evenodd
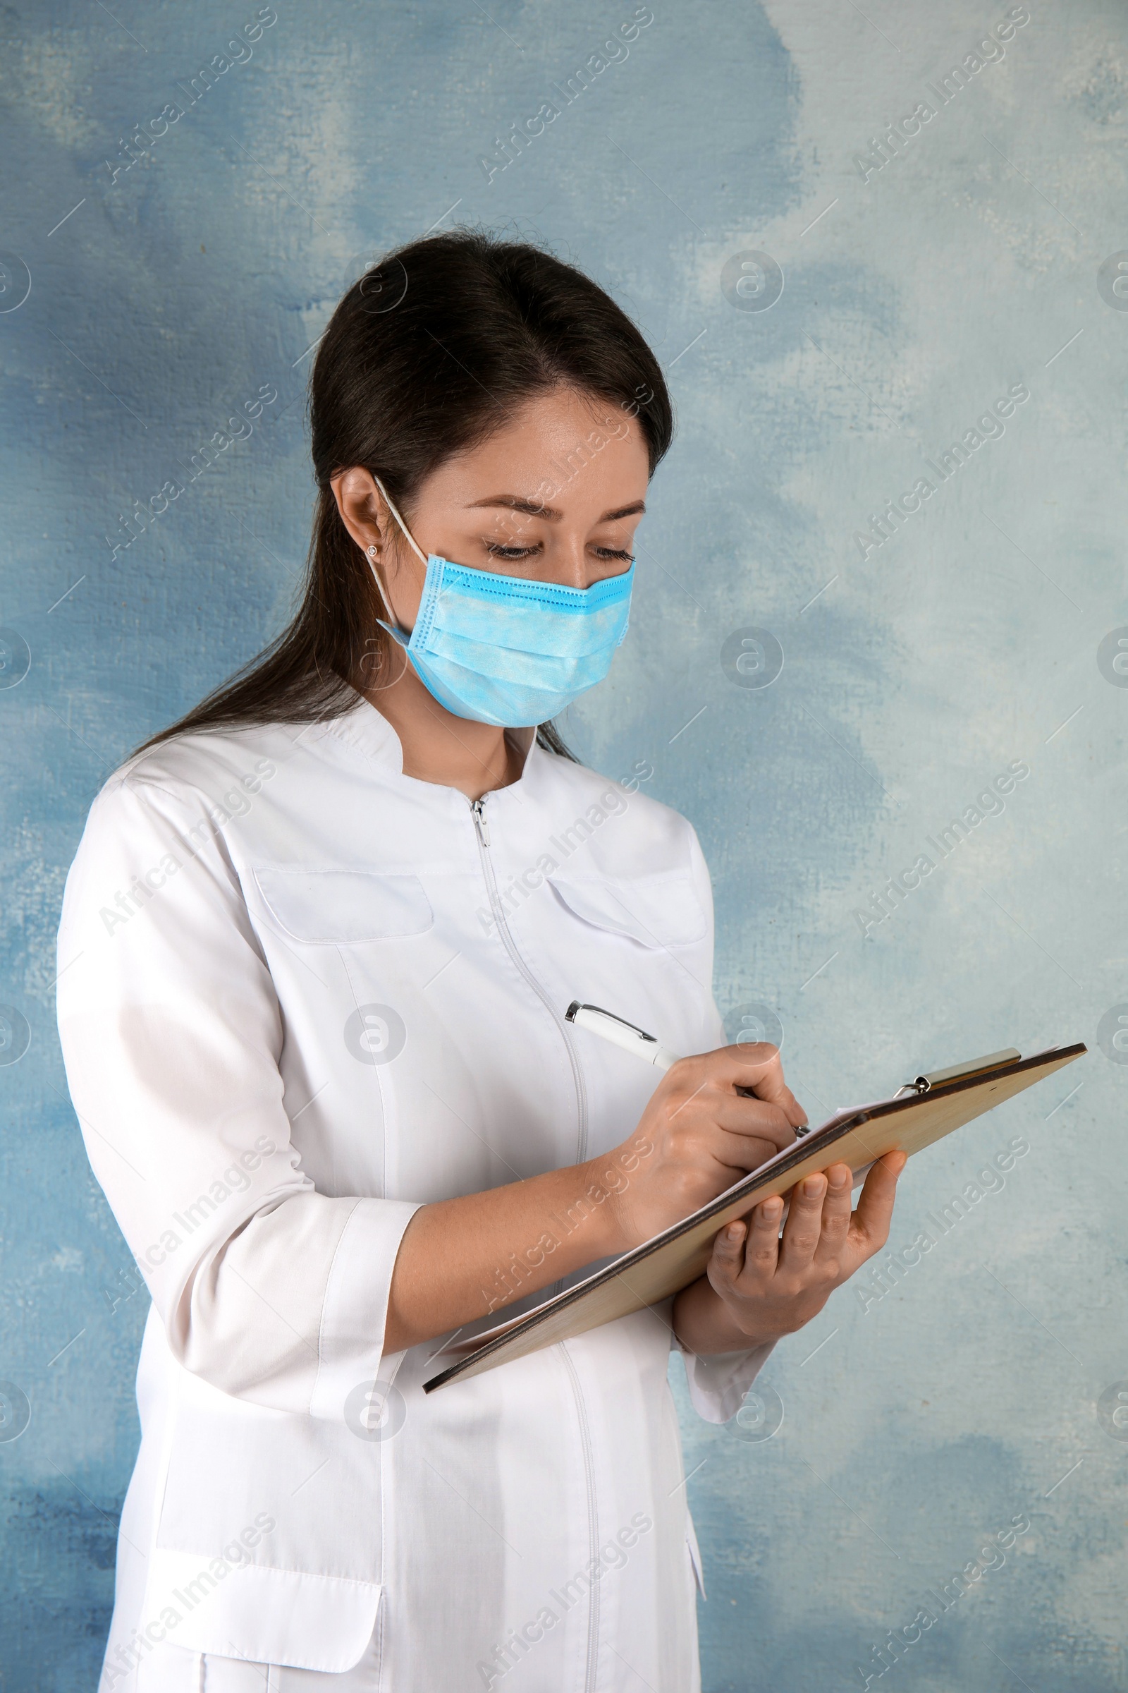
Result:
M152 1292L105 1690L698 1685L670 1348L734 1415L884 1243L900 1158L852 1217L839 1165L676 1300L423 1393L803 1122L775 1048L720 1048L693 830L550 723L622 640L670 433L577 271L387 259L316 356L294 623L95 802L59 1028ZM654 1089L573 997L704 1056Z

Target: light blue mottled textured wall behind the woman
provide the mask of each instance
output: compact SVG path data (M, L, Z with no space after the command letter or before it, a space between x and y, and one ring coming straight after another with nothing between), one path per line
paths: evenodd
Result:
M873 1686L1128 1685L1128 1431L1101 1402L1128 1378L1128 1053L1106 1017L1128 1001L1128 677L1108 647L1098 662L1128 625L1128 20L1030 0L976 71L1011 10L654 0L568 105L553 83L631 0L277 0L252 56L194 95L254 34L252 0L0 12L0 1058L30 1033L0 1065L0 1376L30 1402L0 1441L10 1693L95 1685L137 1437L145 1293L52 1026L66 867L122 755L286 615L311 510L304 354L335 300L365 256L462 220L575 259L668 369L680 438L632 635L568 731L612 774L653 764L649 791L695 821L722 1009L780 1019L812 1117L930 1063L1094 1046L913 1163L896 1248L984 1155L1028 1144L893 1292L847 1288L780 1348L771 1439L683 1415L705 1688L861 1688L874 1646L969 1563L994 1568ZM942 103L928 85L962 63ZM494 137L543 102L560 115L487 181L479 156L501 163ZM873 137L920 102L935 115L878 169ZM123 137L169 105L127 169ZM781 269L771 305L769 269L722 288L749 252ZM939 483L925 460L1013 384L1030 398L1005 433L862 549L869 515ZM130 530L167 483L183 491ZM747 628L785 653L763 689L734 684L747 660L722 667ZM934 852L1011 762L1028 775L1005 811ZM856 913L922 855L932 874L862 935ZM1005 1563L984 1556L1013 1517L1030 1527Z

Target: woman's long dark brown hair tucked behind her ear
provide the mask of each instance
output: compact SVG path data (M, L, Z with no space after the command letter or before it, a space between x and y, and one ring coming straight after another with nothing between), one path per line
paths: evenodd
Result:
M654 354L582 271L524 242L453 230L389 254L348 290L309 379L318 503L294 620L147 745L196 730L342 716L387 662L375 586L330 479L379 476L409 513L430 476L531 396L568 384L638 416L651 474L673 435ZM567 753L550 723L541 745ZM570 757L570 755L568 755Z

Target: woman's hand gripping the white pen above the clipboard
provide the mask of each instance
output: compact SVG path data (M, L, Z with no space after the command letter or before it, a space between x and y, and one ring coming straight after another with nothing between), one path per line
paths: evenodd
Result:
M751 1089L754 1099L737 1094ZM605 1192L619 1251L707 1205L790 1146L807 1112L766 1041L680 1058L654 1089L638 1129L590 1161ZM609 1221L611 1221L609 1219Z

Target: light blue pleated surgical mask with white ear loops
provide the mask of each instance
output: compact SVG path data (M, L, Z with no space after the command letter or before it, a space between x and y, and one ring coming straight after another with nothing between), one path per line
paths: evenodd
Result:
M408 525L377 488L426 565L411 637L396 626L369 552L369 567L387 609L381 620L408 653L423 686L457 718L526 728L548 723L607 676L627 631L634 565L592 587L496 576L435 554L424 557Z

